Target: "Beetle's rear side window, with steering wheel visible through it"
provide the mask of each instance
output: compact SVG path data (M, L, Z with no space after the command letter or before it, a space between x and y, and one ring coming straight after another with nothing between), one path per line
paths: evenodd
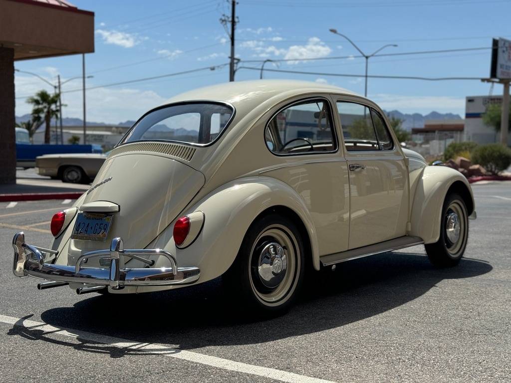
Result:
M324 100L306 101L281 110L268 122L264 136L266 146L276 154L337 149L332 114Z

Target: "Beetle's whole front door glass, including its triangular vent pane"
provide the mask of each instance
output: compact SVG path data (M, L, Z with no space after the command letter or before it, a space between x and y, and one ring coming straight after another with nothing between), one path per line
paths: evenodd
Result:
M373 108L337 102L344 145L349 152L391 150L393 142L382 117Z

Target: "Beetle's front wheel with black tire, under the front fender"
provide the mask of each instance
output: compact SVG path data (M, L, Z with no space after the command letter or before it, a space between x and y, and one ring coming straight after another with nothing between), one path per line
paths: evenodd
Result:
M455 217L452 215L454 214ZM456 235L456 223L459 233ZM457 237L457 240L454 240ZM467 247L469 219L467 206L458 194L447 195L442 208L440 236L434 244L425 245L428 258L434 266L452 267L458 264Z

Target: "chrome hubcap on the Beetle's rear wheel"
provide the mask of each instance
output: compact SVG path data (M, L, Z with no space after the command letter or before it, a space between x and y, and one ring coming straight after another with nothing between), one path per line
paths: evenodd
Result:
M267 244L259 255L258 273L261 282L270 289L278 286L286 275L287 257L284 248L276 243Z

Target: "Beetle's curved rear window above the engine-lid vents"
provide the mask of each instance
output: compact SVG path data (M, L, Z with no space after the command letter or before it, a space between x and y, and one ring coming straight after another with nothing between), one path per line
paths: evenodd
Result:
M171 105L142 117L120 143L166 140L205 145L220 136L232 115L233 109L223 104Z

